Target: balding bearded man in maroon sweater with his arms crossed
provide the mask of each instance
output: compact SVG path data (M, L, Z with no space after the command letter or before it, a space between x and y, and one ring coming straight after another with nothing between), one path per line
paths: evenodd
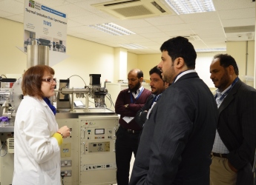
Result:
M150 90L142 87L143 72L133 69L128 73L128 89L119 92L116 99L116 114L120 115L119 129L116 132L116 181L119 185L128 185L132 152L137 154L141 127L134 117L148 97Z

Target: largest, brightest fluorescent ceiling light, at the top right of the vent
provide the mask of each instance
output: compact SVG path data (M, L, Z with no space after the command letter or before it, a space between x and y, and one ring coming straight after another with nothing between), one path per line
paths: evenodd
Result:
M215 11L211 0L165 0L178 14L202 13Z

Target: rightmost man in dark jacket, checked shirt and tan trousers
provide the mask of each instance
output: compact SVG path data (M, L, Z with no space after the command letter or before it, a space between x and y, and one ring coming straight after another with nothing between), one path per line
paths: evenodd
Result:
M256 90L238 78L231 55L215 55L210 66L219 110L212 149L211 185L252 185L256 147Z

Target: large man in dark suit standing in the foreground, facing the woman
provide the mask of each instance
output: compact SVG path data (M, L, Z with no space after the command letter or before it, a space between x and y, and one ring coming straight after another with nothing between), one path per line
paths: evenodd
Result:
M187 38L160 47L158 67L171 83L149 112L130 185L209 184L217 105L194 70L197 53Z

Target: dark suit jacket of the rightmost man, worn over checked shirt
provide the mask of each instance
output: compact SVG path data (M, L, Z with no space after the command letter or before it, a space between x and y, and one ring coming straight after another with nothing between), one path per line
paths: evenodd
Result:
M219 107L217 130L238 169L237 185L253 184L256 147L256 90L238 80Z

